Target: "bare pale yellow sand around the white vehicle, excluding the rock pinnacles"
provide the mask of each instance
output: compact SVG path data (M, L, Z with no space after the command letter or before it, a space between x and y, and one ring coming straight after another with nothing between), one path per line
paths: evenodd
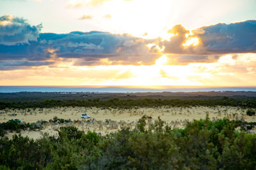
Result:
M245 114L246 110L243 110L239 107L230 107L230 106L216 106L216 107L189 107L189 108L179 108L179 107L162 107L162 108L138 108L132 110L102 110L100 108L84 108L84 107L61 107L61 108L36 108L35 110L27 108L25 110L0 110L0 122L6 122L12 118L19 118L22 122L36 122L38 120L46 120L57 116L58 118L71 120L83 120L81 118L81 114L87 113L95 120L105 121L106 119L115 120L120 122L123 120L124 122L138 122L138 120L143 115L148 115L152 117L152 122L157 120L157 117L161 117L166 123L172 121L183 121L188 120L192 121L193 119L198 120L200 118L205 118L206 114L209 114L209 118L212 120L214 117L216 118L229 118L230 120L236 120L243 117L247 122L255 122L256 116L248 117ZM15 115L15 116L14 116ZM104 127L102 131L99 131L96 127L88 127L84 125L72 124L76 125L79 129L84 131L96 131L105 134L106 132L116 131L117 129L108 129ZM58 127L51 125L50 127L46 127L46 129L42 130L42 132L49 132L50 134L54 134ZM42 136L42 132L33 132L33 131L25 131L21 132L22 136L28 135L31 138L39 138Z

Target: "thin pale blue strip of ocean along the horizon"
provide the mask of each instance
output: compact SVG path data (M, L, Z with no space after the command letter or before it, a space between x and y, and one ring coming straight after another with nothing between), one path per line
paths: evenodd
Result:
M225 91L251 91L256 92L256 87L29 87L29 86L0 86L1 93L10 92L95 92L95 93L134 93L134 92L225 92Z

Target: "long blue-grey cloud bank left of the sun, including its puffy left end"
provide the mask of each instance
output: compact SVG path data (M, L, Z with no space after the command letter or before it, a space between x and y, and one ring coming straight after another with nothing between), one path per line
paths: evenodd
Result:
M8 23L2 24L3 21ZM74 59L77 66L139 62L147 65L154 64L160 56L152 49L154 47L147 46L157 39L136 38L130 34L99 31L40 33L39 26L31 26L22 18L8 15L1 17L0 29L0 62L59 62ZM108 62L104 62L106 60Z

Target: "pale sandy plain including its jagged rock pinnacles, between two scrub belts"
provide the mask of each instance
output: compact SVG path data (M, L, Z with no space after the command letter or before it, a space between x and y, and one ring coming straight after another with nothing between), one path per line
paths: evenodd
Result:
M90 119L81 118L81 114L87 113ZM22 122L35 123L38 120L49 121L53 117L71 119L70 124L46 124L40 131L22 131L22 136L29 138L40 138L44 132L51 135L58 134L60 127L74 125L83 131L95 131L101 134L117 131L122 126L136 128L136 122L143 116L147 115L152 119L147 120L151 124L158 117L164 120L164 124L171 127L183 128L186 122L205 118L209 114L211 120L219 118L229 118L230 120L244 119L246 122L255 122L256 116L248 117L246 110L239 107L231 106L214 106L214 107L161 107L161 108L133 108L131 110L122 109L102 109L102 108L84 108L84 107L58 107L58 108L26 108L26 109L5 109L0 110L0 122L7 122L12 118L19 118ZM110 119L110 122L109 122ZM108 121L106 121L108 120ZM107 122L107 123L106 123ZM14 133L8 133L8 137Z

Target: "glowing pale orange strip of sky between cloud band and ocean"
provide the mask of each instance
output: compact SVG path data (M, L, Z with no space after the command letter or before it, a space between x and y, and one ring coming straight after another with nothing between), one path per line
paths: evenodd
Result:
M164 55L163 55L164 56ZM0 71L1 85L256 85L256 54L232 59L223 55L212 63L169 65L166 57L151 66L56 66Z

